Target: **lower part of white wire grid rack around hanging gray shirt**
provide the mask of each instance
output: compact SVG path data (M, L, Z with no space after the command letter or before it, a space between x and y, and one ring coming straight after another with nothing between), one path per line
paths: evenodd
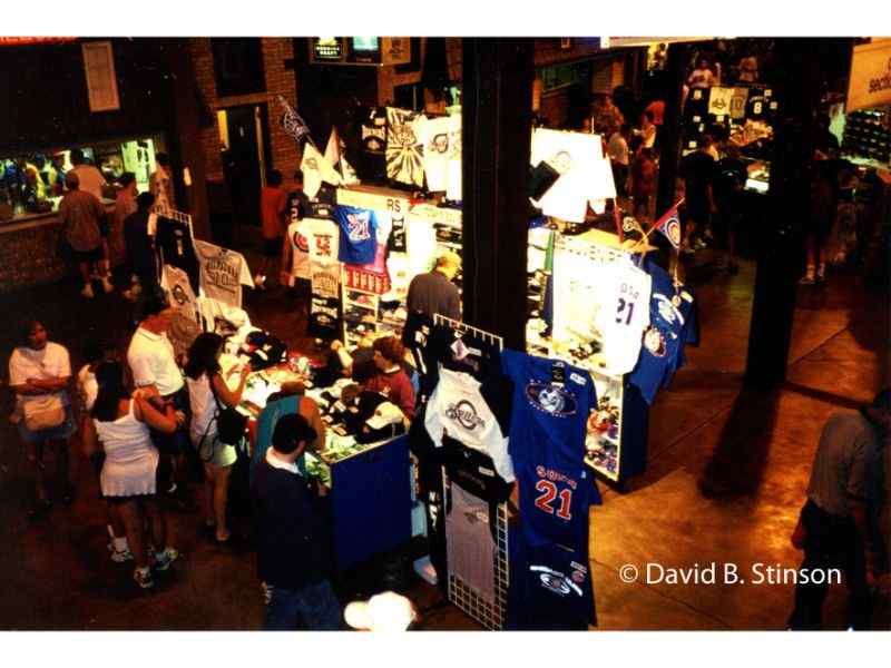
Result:
M446 470L442 471L443 502L449 499L451 481ZM443 503L444 505L444 503ZM444 507L443 507L443 510ZM507 622L508 586L510 582L510 567L508 561L508 507L501 502L497 507L496 518L497 544L495 551L495 603L482 597L473 587L464 582L461 573L452 572L453 564L449 562L449 600L463 610L472 619L492 631L503 630ZM451 537L446 536L446 540Z

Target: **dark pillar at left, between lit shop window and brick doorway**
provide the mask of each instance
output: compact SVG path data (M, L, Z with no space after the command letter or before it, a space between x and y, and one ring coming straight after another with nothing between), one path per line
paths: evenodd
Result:
M176 170L176 199L182 210L192 214L195 236L210 239L209 209L207 206L207 169L204 143L200 135L200 110L198 109L198 88L187 39L170 39L165 45L167 62L172 75L170 105L173 137L168 137L173 148L170 156ZM178 160L177 160L178 157ZM188 169L192 185L185 185L184 170Z

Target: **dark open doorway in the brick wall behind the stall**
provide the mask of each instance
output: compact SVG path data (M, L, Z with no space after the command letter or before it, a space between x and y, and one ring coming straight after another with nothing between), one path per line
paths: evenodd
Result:
M223 170L236 225L260 225L260 193L272 168L266 104L218 111Z

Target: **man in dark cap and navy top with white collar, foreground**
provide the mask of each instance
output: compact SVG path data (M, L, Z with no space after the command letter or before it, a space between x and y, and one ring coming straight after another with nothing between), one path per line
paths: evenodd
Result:
M257 519L257 570L266 595L264 630L342 627L341 605L327 577L326 522L296 464L306 443L315 438L303 415L283 415L251 487Z

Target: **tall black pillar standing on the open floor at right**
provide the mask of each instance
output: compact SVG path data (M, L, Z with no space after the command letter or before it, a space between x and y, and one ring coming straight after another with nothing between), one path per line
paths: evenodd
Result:
M765 73L779 104L766 225L758 239L755 297L748 333L745 383L775 387L786 377L797 279L804 255L803 223L810 203L815 111L828 53L838 57L838 40L775 40L774 67ZM832 48L831 48L832 47Z

